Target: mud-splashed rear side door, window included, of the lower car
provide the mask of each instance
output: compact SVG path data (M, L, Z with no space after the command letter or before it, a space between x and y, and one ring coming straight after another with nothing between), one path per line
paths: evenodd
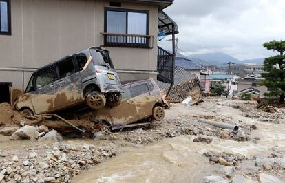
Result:
M155 98L152 96L147 83L136 83L131 85L131 94L136 105L137 120L141 120L152 115Z

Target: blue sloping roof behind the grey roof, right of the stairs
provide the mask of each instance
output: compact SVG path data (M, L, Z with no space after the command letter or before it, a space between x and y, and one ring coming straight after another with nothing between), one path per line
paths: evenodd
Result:
M204 70L205 68L184 56L176 56L175 65L185 70Z

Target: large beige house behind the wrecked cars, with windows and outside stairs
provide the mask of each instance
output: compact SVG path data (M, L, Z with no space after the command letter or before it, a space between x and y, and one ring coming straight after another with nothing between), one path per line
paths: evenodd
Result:
M35 69L91 46L105 47L121 80L173 82L173 54L157 35L178 33L162 11L173 0L0 0L1 93L23 89ZM4 96L4 95L3 95ZM11 100L2 98L1 101Z

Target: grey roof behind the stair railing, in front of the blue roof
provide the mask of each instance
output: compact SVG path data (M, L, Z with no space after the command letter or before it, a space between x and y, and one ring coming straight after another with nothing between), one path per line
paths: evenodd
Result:
M181 67L176 66L174 68L174 85L180 85L193 78L197 78L197 76L185 71ZM169 83L164 83L160 81L158 81L157 83L158 83L158 87L162 90L168 89L170 87Z

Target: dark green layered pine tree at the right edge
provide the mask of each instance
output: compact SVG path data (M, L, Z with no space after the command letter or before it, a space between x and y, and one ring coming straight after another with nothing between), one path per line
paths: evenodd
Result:
M264 73L265 78L260 85L264 85L271 89L266 96L277 96L279 102L284 102L285 99L285 41L270 41L264 43L263 46L267 50L279 52L279 55L265 58Z

